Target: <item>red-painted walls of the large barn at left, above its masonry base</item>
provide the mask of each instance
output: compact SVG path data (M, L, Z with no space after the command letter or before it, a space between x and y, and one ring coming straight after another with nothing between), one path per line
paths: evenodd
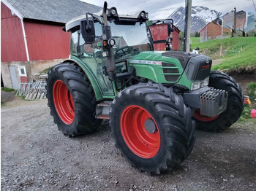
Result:
M30 61L68 58L70 33L62 31L62 26L36 22L23 22ZM2 2L1 61L27 61L20 18Z

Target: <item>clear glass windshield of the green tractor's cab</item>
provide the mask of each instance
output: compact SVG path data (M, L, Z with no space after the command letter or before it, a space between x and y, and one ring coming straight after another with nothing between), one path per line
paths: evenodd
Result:
M115 61L132 58L134 55L143 51L150 51L150 44L146 32L146 24L136 23L131 25L116 25L108 23L111 28L111 34L116 41L113 47ZM102 29L99 23L95 23L96 36L101 36Z

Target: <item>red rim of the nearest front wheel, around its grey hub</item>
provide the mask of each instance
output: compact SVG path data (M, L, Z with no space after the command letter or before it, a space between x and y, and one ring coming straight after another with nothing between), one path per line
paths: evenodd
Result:
M154 133L145 128L146 120L154 122ZM160 133L157 123L146 109L140 106L128 106L121 114L121 134L129 149L143 158L157 155L160 147Z

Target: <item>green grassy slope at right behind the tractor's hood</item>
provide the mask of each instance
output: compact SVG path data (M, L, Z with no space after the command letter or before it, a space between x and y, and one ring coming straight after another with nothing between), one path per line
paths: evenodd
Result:
M202 43L200 43L199 37L192 37L191 41L192 49L199 47L200 54L208 55L212 59L222 58L222 63L212 67L214 70L256 69L255 37L217 39ZM220 46L222 46L222 55L220 55Z

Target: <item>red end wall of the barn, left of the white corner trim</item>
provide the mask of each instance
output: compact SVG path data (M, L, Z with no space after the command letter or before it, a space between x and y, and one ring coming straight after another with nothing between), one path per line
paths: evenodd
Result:
M1 61L27 61L20 19L1 2Z

